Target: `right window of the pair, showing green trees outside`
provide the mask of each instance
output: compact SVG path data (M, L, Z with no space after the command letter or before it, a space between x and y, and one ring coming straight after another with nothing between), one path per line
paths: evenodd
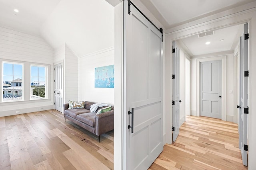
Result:
M46 98L46 66L30 66L30 99Z

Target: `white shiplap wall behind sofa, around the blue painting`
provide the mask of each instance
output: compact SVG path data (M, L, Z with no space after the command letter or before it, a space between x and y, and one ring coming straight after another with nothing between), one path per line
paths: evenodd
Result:
M78 58L78 100L114 104L114 88L95 88L95 68L114 64L114 47Z

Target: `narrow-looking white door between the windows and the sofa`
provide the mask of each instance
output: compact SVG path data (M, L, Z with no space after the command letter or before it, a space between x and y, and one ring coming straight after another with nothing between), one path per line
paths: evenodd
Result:
M55 109L62 112L63 108L63 66L62 63L56 64L54 66L54 72L55 72Z

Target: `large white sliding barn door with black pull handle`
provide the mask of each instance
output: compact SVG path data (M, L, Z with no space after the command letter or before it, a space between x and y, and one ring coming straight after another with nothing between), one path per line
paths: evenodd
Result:
M124 169L146 170L163 150L162 33L124 1Z

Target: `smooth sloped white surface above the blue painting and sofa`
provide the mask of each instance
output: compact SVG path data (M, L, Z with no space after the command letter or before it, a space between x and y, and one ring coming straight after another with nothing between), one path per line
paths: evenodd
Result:
M77 57L114 46L114 7L105 0L61 0L41 28L54 49L64 43Z

